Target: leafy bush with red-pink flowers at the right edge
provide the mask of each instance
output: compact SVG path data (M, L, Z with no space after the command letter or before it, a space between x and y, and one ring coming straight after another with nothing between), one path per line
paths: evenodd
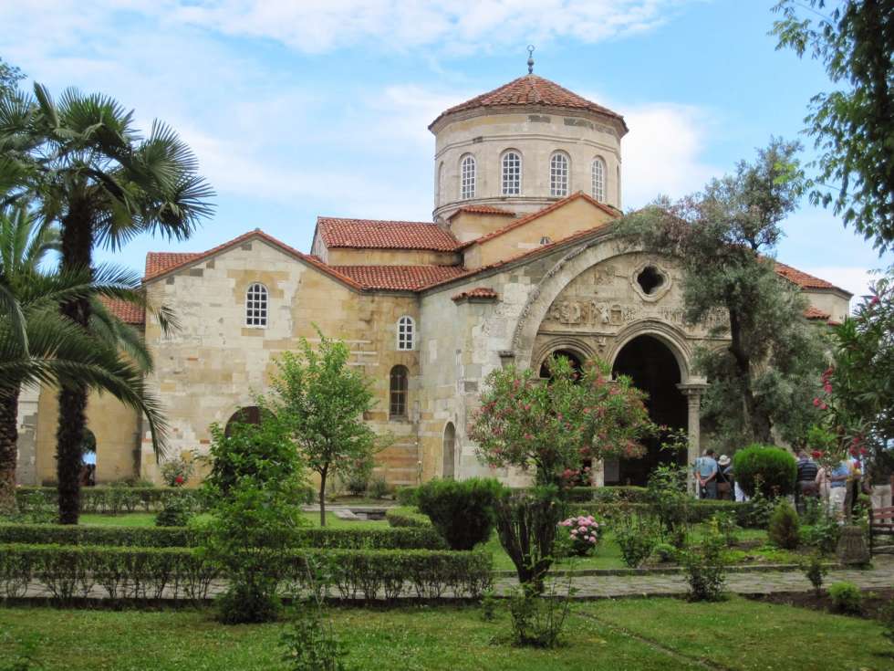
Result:
M883 483L894 471L894 268L833 329L832 345L833 364L813 400L823 418L812 446L834 464L868 457L869 476Z

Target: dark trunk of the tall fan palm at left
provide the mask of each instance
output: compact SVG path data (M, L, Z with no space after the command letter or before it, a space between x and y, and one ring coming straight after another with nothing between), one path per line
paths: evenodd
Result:
M62 269L90 267L93 251L93 223L87 204L74 202L62 220ZM70 300L61 307L63 316L85 330L90 319L88 299ZM80 476L84 429L87 425L87 387L73 383L59 392L59 425L56 433L56 474L59 494L59 523L78 524Z

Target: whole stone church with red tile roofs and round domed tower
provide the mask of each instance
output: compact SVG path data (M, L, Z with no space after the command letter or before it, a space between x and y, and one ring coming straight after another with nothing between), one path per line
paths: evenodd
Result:
M252 419L275 357L296 339L346 341L373 381L366 416L394 436L378 457L393 484L488 472L467 425L488 372L539 368L551 354L607 361L650 394L650 414L699 446L706 381L691 370L711 324L682 320L681 270L670 257L620 245L624 118L528 74L442 112L432 221L320 216L309 253L248 231L203 253L150 253L143 279L182 330L114 305L143 330L151 386L172 426L170 454L206 452L209 425ZM812 320L843 320L850 294L794 267ZM718 315L723 319L723 315ZM717 341L722 345L722 340ZM20 408L19 479L55 476L56 398L30 390ZM91 398L97 481L159 479L141 419ZM642 483L656 463L608 462L597 482ZM498 473L517 483L517 474Z

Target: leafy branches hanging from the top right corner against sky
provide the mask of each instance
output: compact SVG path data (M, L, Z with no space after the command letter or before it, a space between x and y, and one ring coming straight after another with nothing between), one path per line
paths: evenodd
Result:
M894 7L781 0L774 12L782 15L776 48L809 53L837 85L810 100L805 120L820 152L811 199L832 205L883 253L894 242Z

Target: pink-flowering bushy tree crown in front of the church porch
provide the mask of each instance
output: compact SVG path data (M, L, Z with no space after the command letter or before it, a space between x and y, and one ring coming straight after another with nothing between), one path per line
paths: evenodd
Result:
M550 379L513 366L487 377L470 435L488 466L535 468L538 485L567 488L586 460L635 457L654 430L646 394L629 377L612 380L604 362L581 373L565 358L548 362Z

